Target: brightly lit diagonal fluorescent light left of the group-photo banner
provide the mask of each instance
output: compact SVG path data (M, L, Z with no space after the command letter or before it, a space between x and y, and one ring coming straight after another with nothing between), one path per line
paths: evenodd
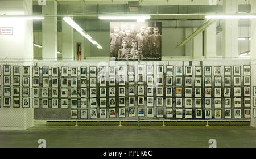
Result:
M67 22L69 25L71 25L71 27L73 27L77 32L79 32L82 36L84 36L85 38L87 38L87 40L89 40L90 42L92 42L93 45L95 45L98 49L102 49L101 45L98 44L98 42L96 42L95 40L93 40L93 38L86 33L79 25L76 24L76 22L71 19L70 17L65 16L63 18L63 20L65 22Z

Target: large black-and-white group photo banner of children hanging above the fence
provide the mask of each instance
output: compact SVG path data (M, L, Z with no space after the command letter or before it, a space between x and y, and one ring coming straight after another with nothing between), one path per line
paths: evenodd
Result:
M161 22L110 22L109 39L110 60L161 60Z

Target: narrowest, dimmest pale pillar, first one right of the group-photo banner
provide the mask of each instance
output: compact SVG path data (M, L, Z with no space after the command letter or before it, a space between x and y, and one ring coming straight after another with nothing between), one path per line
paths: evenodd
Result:
M193 28L193 32L197 28ZM203 55L203 33L200 32L197 36L193 38L193 57L202 58Z

